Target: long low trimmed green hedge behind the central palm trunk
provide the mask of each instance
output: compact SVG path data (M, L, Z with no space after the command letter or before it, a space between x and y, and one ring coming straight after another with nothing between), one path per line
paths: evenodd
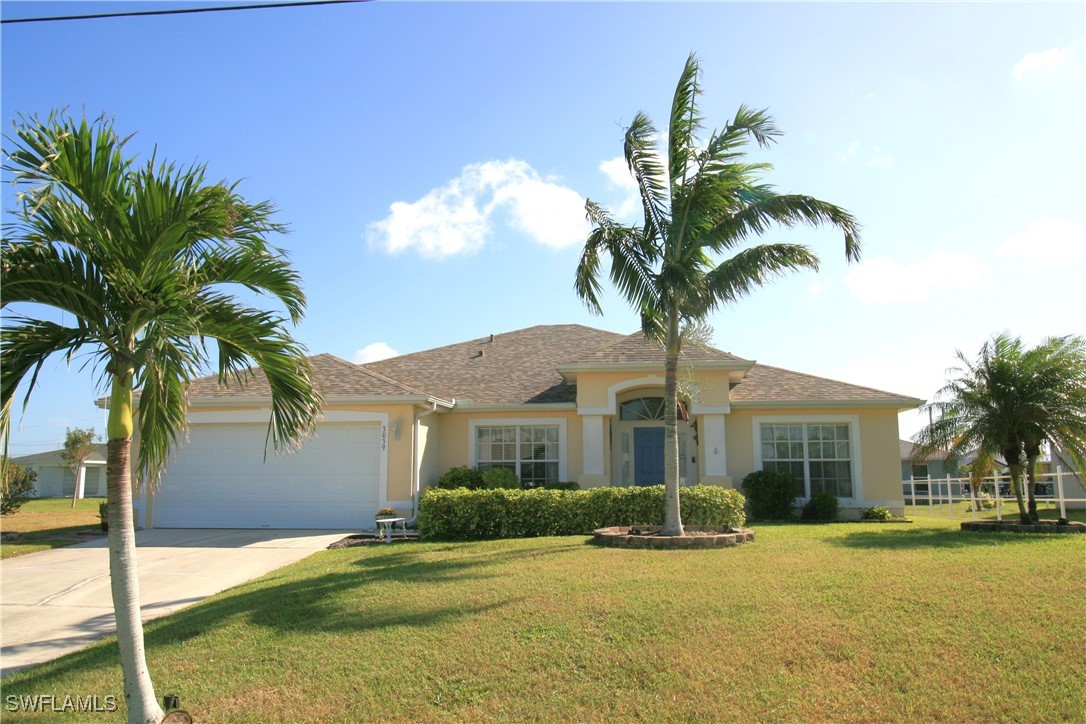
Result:
M738 491L714 485L680 488L683 523L745 522ZM664 486L593 487L588 491L469 491L430 488L418 506L425 541L588 535L610 525L664 524Z

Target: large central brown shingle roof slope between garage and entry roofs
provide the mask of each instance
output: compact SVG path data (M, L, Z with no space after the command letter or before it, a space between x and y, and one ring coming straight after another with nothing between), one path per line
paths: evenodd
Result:
M477 404L572 403L577 386L555 366L621 335L581 325L541 325L362 367L446 399Z

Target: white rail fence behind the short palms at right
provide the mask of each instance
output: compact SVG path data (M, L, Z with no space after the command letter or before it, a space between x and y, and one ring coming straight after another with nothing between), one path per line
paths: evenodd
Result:
M1086 491L1083 490L1082 480L1081 472L1065 471L1062 468L1037 475L1034 495L1037 509L1058 507L1060 518L1066 518L1068 508L1086 508ZM1024 488L1027 484L1023 475L1023 497L1026 496ZM976 519L978 513L995 512L996 519L1002 520L1005 509L1007 515L1018 515L1018 501L1011 491L1010 475L985 478L980 492L973 491L969 478L911 478L901 482L901 492L905 495L906 512L911 509L914 516L958 518L971 515Z

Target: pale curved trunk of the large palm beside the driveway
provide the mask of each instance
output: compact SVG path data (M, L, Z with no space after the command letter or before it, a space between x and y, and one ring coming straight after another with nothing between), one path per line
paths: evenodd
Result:
M144 724L162 721L163 711L154 696L154 685L151 683L143 650L136 526L132 521L131 397L131 373L124 378L114 377L105 468L110 521L110 588L117 622L117 645L121 649L128 722Z

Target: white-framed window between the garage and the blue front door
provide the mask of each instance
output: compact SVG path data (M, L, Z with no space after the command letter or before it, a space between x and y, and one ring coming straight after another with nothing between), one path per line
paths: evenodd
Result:
M480 470L508 468L526 487L558 481L558 425L507 424L476 428Z

